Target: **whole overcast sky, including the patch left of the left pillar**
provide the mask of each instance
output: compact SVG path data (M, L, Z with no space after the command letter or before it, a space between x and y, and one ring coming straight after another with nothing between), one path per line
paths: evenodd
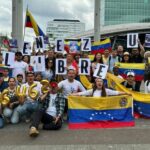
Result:
M85 23L86 30L94 26L94 0L23 0L24 19L28 5L34 19L46 33L47 22L53 19L78 19ZM12 0L0 0L0 33L11 35ZM26 29L26 37L34 36Z

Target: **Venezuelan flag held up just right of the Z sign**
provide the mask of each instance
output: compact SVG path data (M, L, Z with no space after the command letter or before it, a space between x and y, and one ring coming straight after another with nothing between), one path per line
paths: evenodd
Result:
M94 42L91 47L91 53L103 53L105 49L111 50L111 41L110 39L106 39L104 41L97 41Z

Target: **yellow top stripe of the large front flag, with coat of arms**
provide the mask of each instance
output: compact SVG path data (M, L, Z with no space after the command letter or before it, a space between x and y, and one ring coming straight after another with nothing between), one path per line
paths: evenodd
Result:
M111 97L68 96L69 109L122 109L132 107L132 97L127 95Z

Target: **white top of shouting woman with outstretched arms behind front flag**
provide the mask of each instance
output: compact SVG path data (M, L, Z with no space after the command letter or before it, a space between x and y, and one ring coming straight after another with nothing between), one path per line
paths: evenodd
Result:
M109 96L109 95L118 95L119 94L119 91L114 91L114 90L111 90L111 89L105 89L105 90L106 90L106 95L107 96ZM80 96L92 96L92 93L93 93L93 89L87 90L87 91L84 91L84 92L79 92L78 94ZM94 97L101 97L101 94L102 94L101 90L95 90L94 93L93 93L93 96Z

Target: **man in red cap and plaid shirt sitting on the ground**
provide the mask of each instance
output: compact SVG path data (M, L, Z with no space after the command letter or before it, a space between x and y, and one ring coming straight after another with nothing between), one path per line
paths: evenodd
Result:
M40 98L40 101L43 103L42 108L33 114L29 131L30 136L39 134L38 126L40 122L43 123L44 130L58 130L62 126L65 98L61 93L57 92L58 85L56 82L51 82L50 86L50 91Z

